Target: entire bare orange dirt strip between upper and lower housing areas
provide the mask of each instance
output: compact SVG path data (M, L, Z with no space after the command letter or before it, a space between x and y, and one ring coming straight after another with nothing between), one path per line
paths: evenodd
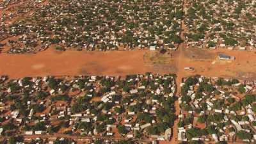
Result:
M198 52L200 51L200 52ZM115 52L57 52L52 49L38 54L0 54L0 75L24 76L76 76L79 74L121 75L145 72L170 73L177 76L200 74L211 77L237 77L255 79L255 53L246 51L184 49L171 52L170 63L148 65L143 54L150 51ZM218 60L218 54L235 56L234 61ZM184 67L194 67L185 71Z

